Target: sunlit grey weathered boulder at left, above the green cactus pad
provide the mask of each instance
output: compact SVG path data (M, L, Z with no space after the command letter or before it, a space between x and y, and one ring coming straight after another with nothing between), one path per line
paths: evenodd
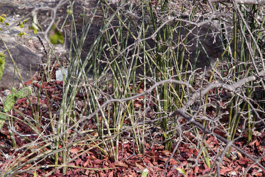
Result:
M29 4L13 4L10 3L10 1L0 2L0 11L6 14L4 23L7 22L10 24L10 26L7 27L3 25L4 23L0 23L0 28L3 29L0 31L0 36L3 38L5 45L16 62L16 66L18 67L24 83L27 82L36 71L39 71L41 58L45 51L39 37L34 35L32 30L29 30L29 26L31 26L30 18L29 22L24 23L23 28L19 26L20 21L18 21L18 19L30 13L29 8L26 8L25 5ZM19 32L25 32L27 35L19 37ZM19 83L21 83L21 80L2 41L0 41L0 52L3 52L6 56L4 73L0 80L0 88L11 89L13 86L13 78L14 87L17 87Z

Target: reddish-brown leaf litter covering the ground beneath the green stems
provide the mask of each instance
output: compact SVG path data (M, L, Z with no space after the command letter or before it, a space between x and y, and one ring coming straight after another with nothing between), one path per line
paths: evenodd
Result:
M62 98L62 82L52 81L52 82L44 82L40 83L40 77L35 77L31 81L26 83L27 85L32 86L34 89L41 90L40 98L35 95L29 96L29 100L32 103L33 109L36 108L36 104L39 105L39 115L43 118L40 122L40 127L38 130L42 132L43 135L52 135L52 129L46 128L44 129L44 125L50 121L49 113L48 113L48 105L50 105L50 109L53 115L58 114L58 110L60 107L60 101ZM142 90L143 87L140 89ZM217 91L217 90L213 90ZM6 92L6 91L5 91ZM4 90L0 90L0 96L6 96ZM48 98L46 96L48 95ZM76 103L81 108L84 106L84 98L87 95L83 95L82 93L78 94L76 97ZM144 97L139 97L135 99L134 106L137 109L143 109L143 99ZM0 105L2 106L2 105ZM153 105L154 106L154 105ZM21 163L27 162L29 159L35 157L37 154L44 153L45 151L51 150L51 147L47 146L40 150L38 153L32 153L35 146L31 146L30 149L28 147L24 147L26 144L29 144L30 141L42 142L43 139L39 139L38 136L34 135L35 132L25 124L23 121L27 117L32 117L32 110L29 105L28 99L21 98L18 99L16 105L14 106L17 110L19 110L24 117L22 117L16 111L12 112L12 115L16 117L13 119L13 128L21 135L24 134L33 134L29 136L28 139L21 137L19 134L15 133L15 140L17 143L17 148L12 148L11 137L5 124L0 130L0 173L3 173L7 169L10 170L10 166L12 163L16 163L19 159ZM10 112L9 112L10 114ZM36 113L34 113L36 114ZM208 111L209 116L212 114L211 110ZM148 112L147 118L153 118L155 113ZM101 117L99 117L101 119ZM23 121L22 121L23 120ZM198 120L200 121L200 120ZM223 121L223 120L222 120ZM124 123L129 123L128 121L124 121ZM185 120L180 120L180 122L184 123ZM87 129L95 129L96 126L94 122L90 119L88 120L88 124L85 126ZM162 133L161 130L156 130L160 132L153 132L151 135L154 136L155 133ZM216 129L214 131L216 134L220 136L225 136L224 132ZM69 134L73 133L72 130L68 132ZM201 132L202 133L202 132ZM96 136L96 132L92 135ZM128 134L124 133L121 137L126 139ZM198 149L198 142L196 138L193 136L192 132L187 132L184 134L186 137L177 148L176 153L172 158L172 151L165 150L164 146L159 145L159 141L162 141L162 136L156 136L155 140L158 143L150 142L146 143L146 148L144 149L143 154L136 154L137 150L135 148L133 141L123 141L120 140L119 148L118 148L118 160L114 160L113 157L108 157L104 155L99 149L92 148L88 150L86 153L79 155L84 149L83 145L73 145L69 149L70 157L77 157L74 161L70 162L67 168L66 175L62 175L62 168L56 170L50 177L141 177L141 173L144 169L148 169L148 177L161 177L164 176L166 163L168 163L166 177L181 177L177 168L183 169L186 172L187 177L197 177L206 175L211 171L210 168L206 167L204 162L204 157L200 153L200 149ZM237 135L236 135L237 136ZM238 139L234 144L244 150L247 154L253 157L262 157L259 159L259 163L265 165L265 156L264 156L264 137L265 133L258 132L257 134L253 133L252 141L247 144L247 134L243 133L243 136ZM177 139L177 136L174 137ZM30 140L30 141L29 141ZM189 140L189 141L187 141ZM223 148L222 144L216 140L213 136L206 136L206 144L209 148L208 155L213 158L210 160L210 163L214 163L214 159L216 158L216 154L220 153L220 149ZM38 146L44 146L46 143L40 143ZM65 144L67 145L67 143ZM172 149L174 149L176 145L174 144ZM62 148L63 145L60 145L59 148ZM20 150L17 150L19 149ZM32 154L31 154L32 153ZM233 176L239 177L240 173L246 172L247 177L262 177L265 176L265 170L261 169L257 164L254 164L252 160L246 157L244 154L238 152L235 148L231 149L232 156L223 157L222 163L220 164L220 174L221 176ZM197 158L199 157L199 158ZM197 161L197 164L195 163ZM62 163L62 158L59 158L59 164ZM15 177L33 177L35 173L37 177L44 176L50 171L55 169L54 155L50 155L46 157L39 164L35 165L30 171L21 172L18 175L14 175ZM20 170L27 170L31 165L34 165L34 161L29 164L23 166ZM78 168L81 167L81 168ZM105 170L97 170L97 169L105 169ZM215 172L215 168L213 172Z

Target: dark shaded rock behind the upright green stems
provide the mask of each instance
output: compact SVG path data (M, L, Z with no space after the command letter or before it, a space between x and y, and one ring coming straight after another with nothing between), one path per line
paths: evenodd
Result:
M92 0L90 1L92 2ZM77 4L75 4L77 5ZM92 4L89 4L92 5ZM89 6L90 7L90 6ZM87 7L87 9L89 9L89 7ZM136 9L136 8L135 8ZM114 8L114 10L117 10L116 8ZM74 10L75 13L75 10ZM110 10L111 13L111 10ZM138 11L135 10L135 13L137 14ZM146 12L147 13L147 12ZM89 14L89 13L87 13ZM140 10L139 14L137 14L138 17L141 17L142 15L142 10ZM90 50L91 46L93 45L96 36L98 36L100 34L100 31L104 31L103 29L101 29L101 25L102 25L102 19L100 19L101 16L103 16L101 14L101 11L98 10L96 15L96 17L98 18L93 18L93 21L91 22L91 26L90 29L88 31L88 35L86 37L86 39L84 40L84 45L82 48L82 52L81 52L81 59L84 62L88 51ZM109 17L111 16L111 14L109 14ZM138 24L138 26L141 26L142 24L142 19L139 18L135 24ZM188 20L188 19L184 19L184 20ZM125 20L124 20L125 21ZM176 25L178 23L178 25ZM130 31L135 35L135 36L139 36L139 29L135 28L135 24L131 25L130 27ZM181 25L179 25L179 21L175 21L173 22L173 26L175 29L174 33L173 33L173 40L174 40L174 44L173 46L170 46L172 49L175 49L175 53L177 56L177 52L178 52L178 58L180 58L181 55L181 49L184 49L184 62L183 62L183 66L182 66L182 71L185 70L185 63L187 59L189 59L191 65L189 65L189 69L191 69L191 67L194 67L193 69L198 69L201 68L202 70L206 69L210 69L210 65L214 65L217 58L219 58L223 52L222 49L222 41L220 40L220 35L218 29L216 29L215 27L213 27L213 25L210 24L204 24L201 27L195 27L194 25L190 25L190 29L193 29L191 32L189 32L190 29L188 29L188 24L182 22ZM77 18L77 21L75 23L76 25L76 30L77 30L77 34L81 35L82 32L82 28L83 28L83 23L82 23L82 19ZM119 27L120 25L117 22L117 19L114 18L114 20L111 21L111 27ZM127 31L127 29L125 29L124 27L119 27L121 31L124 32L124 34L122 36L126 36L125 32ZM114 28L115 30L117 28ZM108 32L110 33L110 35L113 35L113 31L114 29L110 28L108 29ZM180 31L179 31L180 29ZM105 30L107 31L107 30ZM149 37L154 33L154 30L152 29L152 27L150 27L147 31L145 31L145 37ZM189 32L188 36L187 36L187 43L184 45L183 42L179 42L179 51L177 51L177 43L178 43L178 38L183 39L186 34ZM67 32L70 33L70 32ZM107 32L105 32L107 33ZM207 34L207 35L206 35ZM214 34L214 35L213 35ZM180 36L179 36L180 35ZM118 34L115 35L116 37L112 38L112 45L114 47L116 46L125 46L124 48L126 48L127 46L131 45L131 44L135 44L135 46L137 46L137 39L134 39L131 35L128 36L128 41L125 41L125 37L123 37L123 43L117 43L117 36ZM75 36L73 36L75 41ZM168 39L169 37L166 36L166 38ZM104 38L105 39L105 38ZM103 44L106 43L106 41L104 41L103 39ZM154 53L154 55L152 56L153 59L155 59L157 57L157 55L159 55L157 53L157 46L162 46L162 44L165 45L165 42L161 42L161 41L156 41L157 39L153 40L151 38L147 39L146 42L148 44L148 46L146 45L146 50L149 50L149 54L151 53L151 51ZM158 43L158 45L155 45L156 43ZM70 42L67 41L66 42L67 46L70 46ZM76 44L77 46L77 44ZM131 46L130 48L128 48L123 55L126 56L127 59L127 63L130 63L130 59L133 56L133 49L135 48L135 46ZM103 49L104 51L101 53L100 58L97 59L96 61L96 65L99 67L99 73L101 73L103 71L103 68L107 65L107 59L108 61L110 59L112 59L110 57L110 49L108 49L109 47L106 47L105 49ZM115 50L114 50L115 51ZM142 51L141 51L142 52ZM74 50L72 50L72 54L74 54ZM117 56L118 54L115 53L115 55ZM115 56L115 57L116 57ZM114 57L114 58L115 58ZM136 57L135 57L136 58ZM134 58L134 59L135 59ZM138 58L138 63L137 65L139 67L137 67L136 70L136 74L143 74L143 61L141 62L140 59L143 58L143 54L139 54L139 58ZM163 57L162 57L163 58ZM180 59L179 59L180 60ZM178 60L178 62L180 63L180 61ZM121 57L117 58L118 63L120 64L120 70L121 72L125 72L127 73L127 70L124 69L124 63L122 63L121 61ZM140 66L142 64L142 66ZM85 70L87 70L90 66L90 62L88 62L87 67L85 68ZM154 66L151 66L152 68L155 68ZM89 74L92 74L92 69L89 70L88 72Z

